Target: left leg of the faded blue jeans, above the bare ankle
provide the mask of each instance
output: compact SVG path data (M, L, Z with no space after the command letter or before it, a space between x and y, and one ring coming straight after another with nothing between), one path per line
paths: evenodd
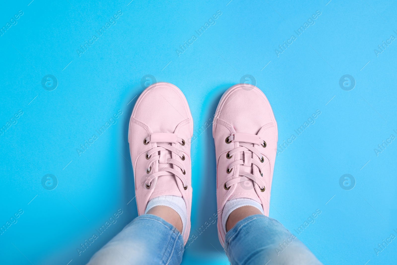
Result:
M178 265L182 255L183 238L177 228L157 215L146 214L125 226L87 265Z

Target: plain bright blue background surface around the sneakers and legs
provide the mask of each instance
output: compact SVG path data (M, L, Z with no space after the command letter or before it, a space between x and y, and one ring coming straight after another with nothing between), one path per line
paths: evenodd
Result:
M137 216L127 131L146 74L179 87L193 115L191 233L216 212L212 126L198 130L224 91L250 74L272 104L279 143L321 111L276 159L270 217L294 232L320 209L298 238L324 264L395 263L397 239L374 250L397 236L397 140L374 152L397 136L397 42L374 52L397 37L395 2L129 1L1 4L1 27L23 11L0 37L0 126L23 111L0 136L0 224L23 210L0 235L1 264L85 264ZM119 10L116 25L79 57L80 45ZM178 57L179 45L218 10L216 24ZM291 35L297 39L276 56ZM48 74L58 79L53 91L41 85ZM351 91L339 87L345 74L356 80ZM79 156L79 145L118 110L117 123ZM348 191L339 186L347 173L356 180ZM54 190L42 187L45 174L58 179ZM117 223L79 256L80 244L118 209ZM228 264L216 225L187 248L183 264Z

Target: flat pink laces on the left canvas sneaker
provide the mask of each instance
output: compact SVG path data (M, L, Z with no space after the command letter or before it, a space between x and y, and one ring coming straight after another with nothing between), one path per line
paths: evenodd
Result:
M148 160L146 174L152 172L152 166L154 166L155 162L158 162L159 165L164 164L164 166L161 169L159 168L159 171L155 173L152 172L152 174L149 174L146 177L146 189L149 190L152 184L155 186L158 177L170 175L171 173L181 180L183 189L187 190L187 179L184 176L186 174L186 170L183 164L177 159L173 159L172 155L171 158L166 157L165 162L160 161L160 155L158 154L159 151L168 150L171 153L178 155L179 158L184 161L185 155L183 154L183 151L179 150L175 146L169 145L168 143L179 143L181 146L184 146L185 140L178 137L175 133L150 133L150 135L143 140L143 144L147 145L149 143L154 143L156 146L148 150L146 153L146 159ZM167 164L172 164L173 166L166 167ZM175 166L179 169L175 168Z

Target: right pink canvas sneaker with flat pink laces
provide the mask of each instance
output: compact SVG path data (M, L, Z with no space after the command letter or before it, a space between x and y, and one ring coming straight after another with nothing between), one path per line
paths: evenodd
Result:
M222 96L214 117L218 213L226 201L249 198L269 215L270 188L277 150L277 124L268 99L253 85L233 85ZM224 245L222 213L218 237Z

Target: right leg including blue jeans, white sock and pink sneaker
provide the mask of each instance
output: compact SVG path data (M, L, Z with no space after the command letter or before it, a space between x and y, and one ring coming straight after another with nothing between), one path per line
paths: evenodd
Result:
M268 217L277 134L272 107L260 89L238 84L224 93L212 135L217 205L222 211L218 237L232 265L321 264L294 235Z

